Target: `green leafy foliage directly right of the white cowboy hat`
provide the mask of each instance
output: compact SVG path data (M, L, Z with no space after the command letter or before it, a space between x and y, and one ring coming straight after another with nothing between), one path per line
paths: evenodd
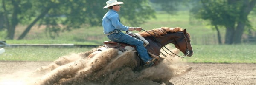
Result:
M125 19L124 23L135 27L155 17L155 11L148 4L148 0L123 0L123 2L125 4L121 4L119 17L121 21Z

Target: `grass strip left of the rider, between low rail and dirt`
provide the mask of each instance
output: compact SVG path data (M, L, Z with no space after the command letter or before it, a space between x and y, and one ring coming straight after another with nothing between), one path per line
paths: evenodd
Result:
M6 47L0 61L54 61L58 57L88 51L92 48L76 47Z

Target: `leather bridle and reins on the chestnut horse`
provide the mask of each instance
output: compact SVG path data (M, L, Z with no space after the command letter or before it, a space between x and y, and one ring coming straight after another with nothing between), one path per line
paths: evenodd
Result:
M144 29L142 29L143 31L145 31ZM147 32L148 34L150 34L148 31L145 31L145 32ZM156 40L157 42L159 42L160 43L160 41L159 40L157 40L157 38L156 37L154 37L152 34L150 34L153 38L154 38L154 40ZM189 52L189 48L188 48L188 40L187 40L187 36L188 36L188 34L184 34L183 33L183 36L184 36L184 39L185 39L185 42L186 42L186 55L184 54L183 56L179 56L179 55L177 55L177 54L175 54L175 53L173 53L172 51L170 51L168 48L166 48L166 46L165 45L163 45L163 47L164 48L166 48L169 52L171 52L172 54L174 54L174 55L176 55L176 56L178 56L178 57L181 57L181 58L185 58L190 52ZM161 43L160 43L161 44ZM162 45L162 44L161 44ZM162 48L163 49L163 48ZM163 51L165 51L164 49L163 49ZM166 51L165 51L166 52ZM165 54L163 54L162 52L160 52L160 54L162 54L164 57L167 57ZM169 54L168 52L166 52L166 54ZM173 56L173 55L171 55L171 54L169 54L170 56Z

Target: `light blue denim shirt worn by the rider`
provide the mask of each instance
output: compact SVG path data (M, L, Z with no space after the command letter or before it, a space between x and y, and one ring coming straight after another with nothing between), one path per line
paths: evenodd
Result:
M110 31L115 29L128 31L128 26L120 23L119 14L113 9L109 9L108 12L102 18L102 26L104 34L108 34Z

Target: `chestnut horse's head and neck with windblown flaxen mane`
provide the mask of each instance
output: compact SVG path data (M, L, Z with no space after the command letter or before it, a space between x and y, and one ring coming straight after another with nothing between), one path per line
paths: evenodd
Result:
M140 35L143 37L148 37L148 40L151 40L150 43L159 42L157 45L151 44L151 49L155 48L160 50L163 46L172 43L186 56L191 57L193 55L193 49L190 44L190 35L186 32L186 29L182 30L182 28L179 27L161 27L150 31L141 32ZM157 39L155 39L155 37L157 37ZM157 42L155 42L155 40ZM160 51L156 54L160 54Z

